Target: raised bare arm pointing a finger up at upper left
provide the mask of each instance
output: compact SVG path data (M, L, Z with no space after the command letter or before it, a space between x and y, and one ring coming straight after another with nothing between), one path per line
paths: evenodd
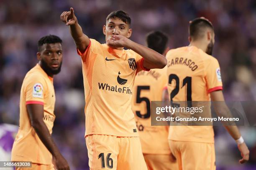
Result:
M74 15L74 9L71 7L70 11L64 11L60 18L66 25L69 25L70 34L78 50L83 53L90 44L90 39L83 33L81 26L78 24L77 17Z

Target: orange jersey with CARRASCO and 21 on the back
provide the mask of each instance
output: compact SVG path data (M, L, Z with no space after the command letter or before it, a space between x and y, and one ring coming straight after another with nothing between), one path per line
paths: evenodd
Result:
M171 101L210 101L210 92L222 90L218 60L197 47L169 50L166 58ZM214 133L212 126L170 126L169 139L214 143Z

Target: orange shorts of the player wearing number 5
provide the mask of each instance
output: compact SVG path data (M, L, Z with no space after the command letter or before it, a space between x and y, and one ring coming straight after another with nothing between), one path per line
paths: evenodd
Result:
M177 161L173 155L143 154L148 170L178 170Z

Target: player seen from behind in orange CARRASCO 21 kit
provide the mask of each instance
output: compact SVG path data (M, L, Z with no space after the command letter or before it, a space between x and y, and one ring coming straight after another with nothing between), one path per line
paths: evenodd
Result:
M189 23L189 46L170 50L166 54L169 78L167 87L173 102L212 100L216 113L225 115L228 107L223 104L220 66L218 60L211 56L214 37L214 29L209 20L196 18ZM242 156L239 162L245 163L249 158L249 150L238 128L224 126L238 143ZM215 170L212 125L170 126L169 145L177 158L179 170Z

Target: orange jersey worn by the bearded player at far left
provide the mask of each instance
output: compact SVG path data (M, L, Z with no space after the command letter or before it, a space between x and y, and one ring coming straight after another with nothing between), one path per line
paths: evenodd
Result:
M44 105L44 123L50 133L54 125L55 92L53 78L36 65L25 76L20 91L20 127L13 143L12 161L49 165L51 153L41 142L29 120L27 104Z

